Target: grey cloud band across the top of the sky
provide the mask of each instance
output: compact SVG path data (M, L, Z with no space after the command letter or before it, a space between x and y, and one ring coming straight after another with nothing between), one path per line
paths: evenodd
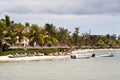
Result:
M119 14L120 0L1 0L3 12L27 14Z

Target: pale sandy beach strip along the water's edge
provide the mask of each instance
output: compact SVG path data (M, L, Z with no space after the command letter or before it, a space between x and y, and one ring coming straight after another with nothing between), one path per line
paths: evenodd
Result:
M74 50L71 53L82 53L82 52L92 52L92 51L101 51L101 50L120 50L120 49L78 49ZM9 58L7 56L0 56L0 62L11 62L11 61L35 61L35 60L54 60L54 59L67 59L70 58L70 55L63 56L27 56L20 58Z

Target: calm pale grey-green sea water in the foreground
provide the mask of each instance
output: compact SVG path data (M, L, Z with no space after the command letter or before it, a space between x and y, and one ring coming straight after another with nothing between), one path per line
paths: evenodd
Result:
M120 80L120 50L112 52L115 57L2 62L0 80Z

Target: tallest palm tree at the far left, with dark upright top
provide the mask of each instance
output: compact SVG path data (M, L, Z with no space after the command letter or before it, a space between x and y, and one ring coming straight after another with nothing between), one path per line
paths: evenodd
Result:
M7 48L13 43L13 27L14 21L10 21L10 16L5 15L5 19L1 19L1 37L2 37L2 45L4 48ZM3 32L2 32L3 31ZM5 47L6 46L6 47Z

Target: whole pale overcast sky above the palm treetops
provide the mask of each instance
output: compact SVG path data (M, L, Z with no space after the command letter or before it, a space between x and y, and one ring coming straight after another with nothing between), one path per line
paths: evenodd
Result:
M54 24L80 34L120 35L120 0L0 0L0 19Z

